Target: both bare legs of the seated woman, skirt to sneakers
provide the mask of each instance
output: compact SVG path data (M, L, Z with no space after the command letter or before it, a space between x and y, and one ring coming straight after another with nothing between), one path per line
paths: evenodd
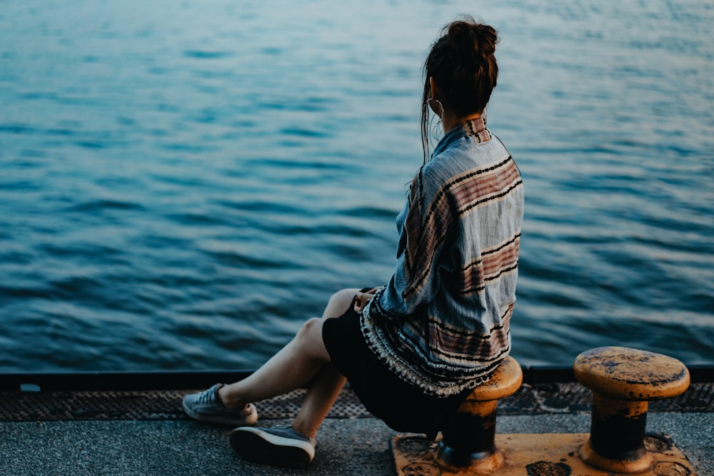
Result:
M345 289L330 299L323 318L341 315L357 289ZM218 391L223 405L238 408L248 402L266 400L308 385L308 392L293 427L314 436L345 384L345 378L329 364L322 340L323 319L312 318L303 324L288 345L255 373Z

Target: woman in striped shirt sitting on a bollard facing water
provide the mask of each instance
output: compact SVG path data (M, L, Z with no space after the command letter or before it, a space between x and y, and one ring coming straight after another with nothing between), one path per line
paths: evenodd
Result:
M426 59L425 163L403 211L396 270L387 285L341 290L323 318L248 378L187 395L198 420L238 426L231 445L248 460L304 467L318 427L346 380L394 430L436 436L511 349L523 185L486 129L496 86L496 31L467 17L443 29ZM429 110L444 133L428 158ZM307 388L290 427L252 427L251 402Z

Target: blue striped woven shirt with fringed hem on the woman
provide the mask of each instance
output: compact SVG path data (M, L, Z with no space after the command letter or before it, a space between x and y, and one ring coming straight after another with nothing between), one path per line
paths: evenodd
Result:
M361 328L396 375L437 396L483 383L511 350L523 182L481 118L449 131L397 217L396 270Z

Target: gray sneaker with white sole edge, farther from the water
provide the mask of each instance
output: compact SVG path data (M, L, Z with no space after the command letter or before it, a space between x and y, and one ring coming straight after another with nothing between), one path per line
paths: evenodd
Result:
M313 460L316 442L293 427L241 427L231 432L231 446L247 461L303 468Z

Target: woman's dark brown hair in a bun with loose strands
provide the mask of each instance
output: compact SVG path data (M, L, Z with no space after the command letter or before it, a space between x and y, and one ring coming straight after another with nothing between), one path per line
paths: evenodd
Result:
M441 38L431 46L424 63L424 93L421 101L421 143L424 160L428 155L429 78L438 86L438 99L457 117L481 113L496 87L498 64L493 27L480 24L471 16L444 26Z

